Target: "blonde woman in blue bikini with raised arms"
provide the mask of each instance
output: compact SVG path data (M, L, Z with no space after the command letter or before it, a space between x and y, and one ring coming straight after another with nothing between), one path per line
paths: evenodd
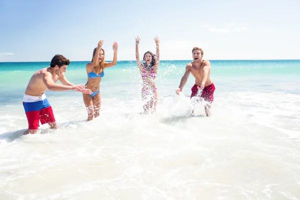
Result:
M105 62L105 51L102 47L103 40L94 48L91 62L86 64L87 82L85 88L90 89L92 94L83 94L83 102L87 110L87 120L99 116L101 106L100 81L104 76L104 68L116 65L117 42L113 42L113 60Z

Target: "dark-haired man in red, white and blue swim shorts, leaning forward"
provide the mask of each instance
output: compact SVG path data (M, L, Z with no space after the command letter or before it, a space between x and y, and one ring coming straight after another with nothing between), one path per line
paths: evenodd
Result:
M23 106L28 121L28 129L24 134L36 133L39 120L41 124L48 123L50 128L57 128L52 107L44 94L46 90L74 90L91 94L91 90L85 89L84 85L74 85L65 78L64 72L69 63L69 59L56 54L52 58L50 66L36 71L31 76L23 96ZM57 84L57 80L59 80L62 85Z

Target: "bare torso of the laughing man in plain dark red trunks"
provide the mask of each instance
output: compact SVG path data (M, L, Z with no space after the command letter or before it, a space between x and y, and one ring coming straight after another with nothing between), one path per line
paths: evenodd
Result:
M196 64L194 63L194 61L189 63L189 70L191 72L191 74L195 77L195 84L196 85L200 85L203 79L203 67L206 65L208 60L202 60L202 64L197 67ZM210 78L210 68L208 71L208 75L207 75L207 79L206 82L204 84L204 87L210 85L212 83L211 78Z

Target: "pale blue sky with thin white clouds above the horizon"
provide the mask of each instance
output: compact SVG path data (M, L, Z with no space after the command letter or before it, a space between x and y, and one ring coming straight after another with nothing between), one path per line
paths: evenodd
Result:
M300 0L0 0L0 62L86 61L104 40L105 60L300 59Z

